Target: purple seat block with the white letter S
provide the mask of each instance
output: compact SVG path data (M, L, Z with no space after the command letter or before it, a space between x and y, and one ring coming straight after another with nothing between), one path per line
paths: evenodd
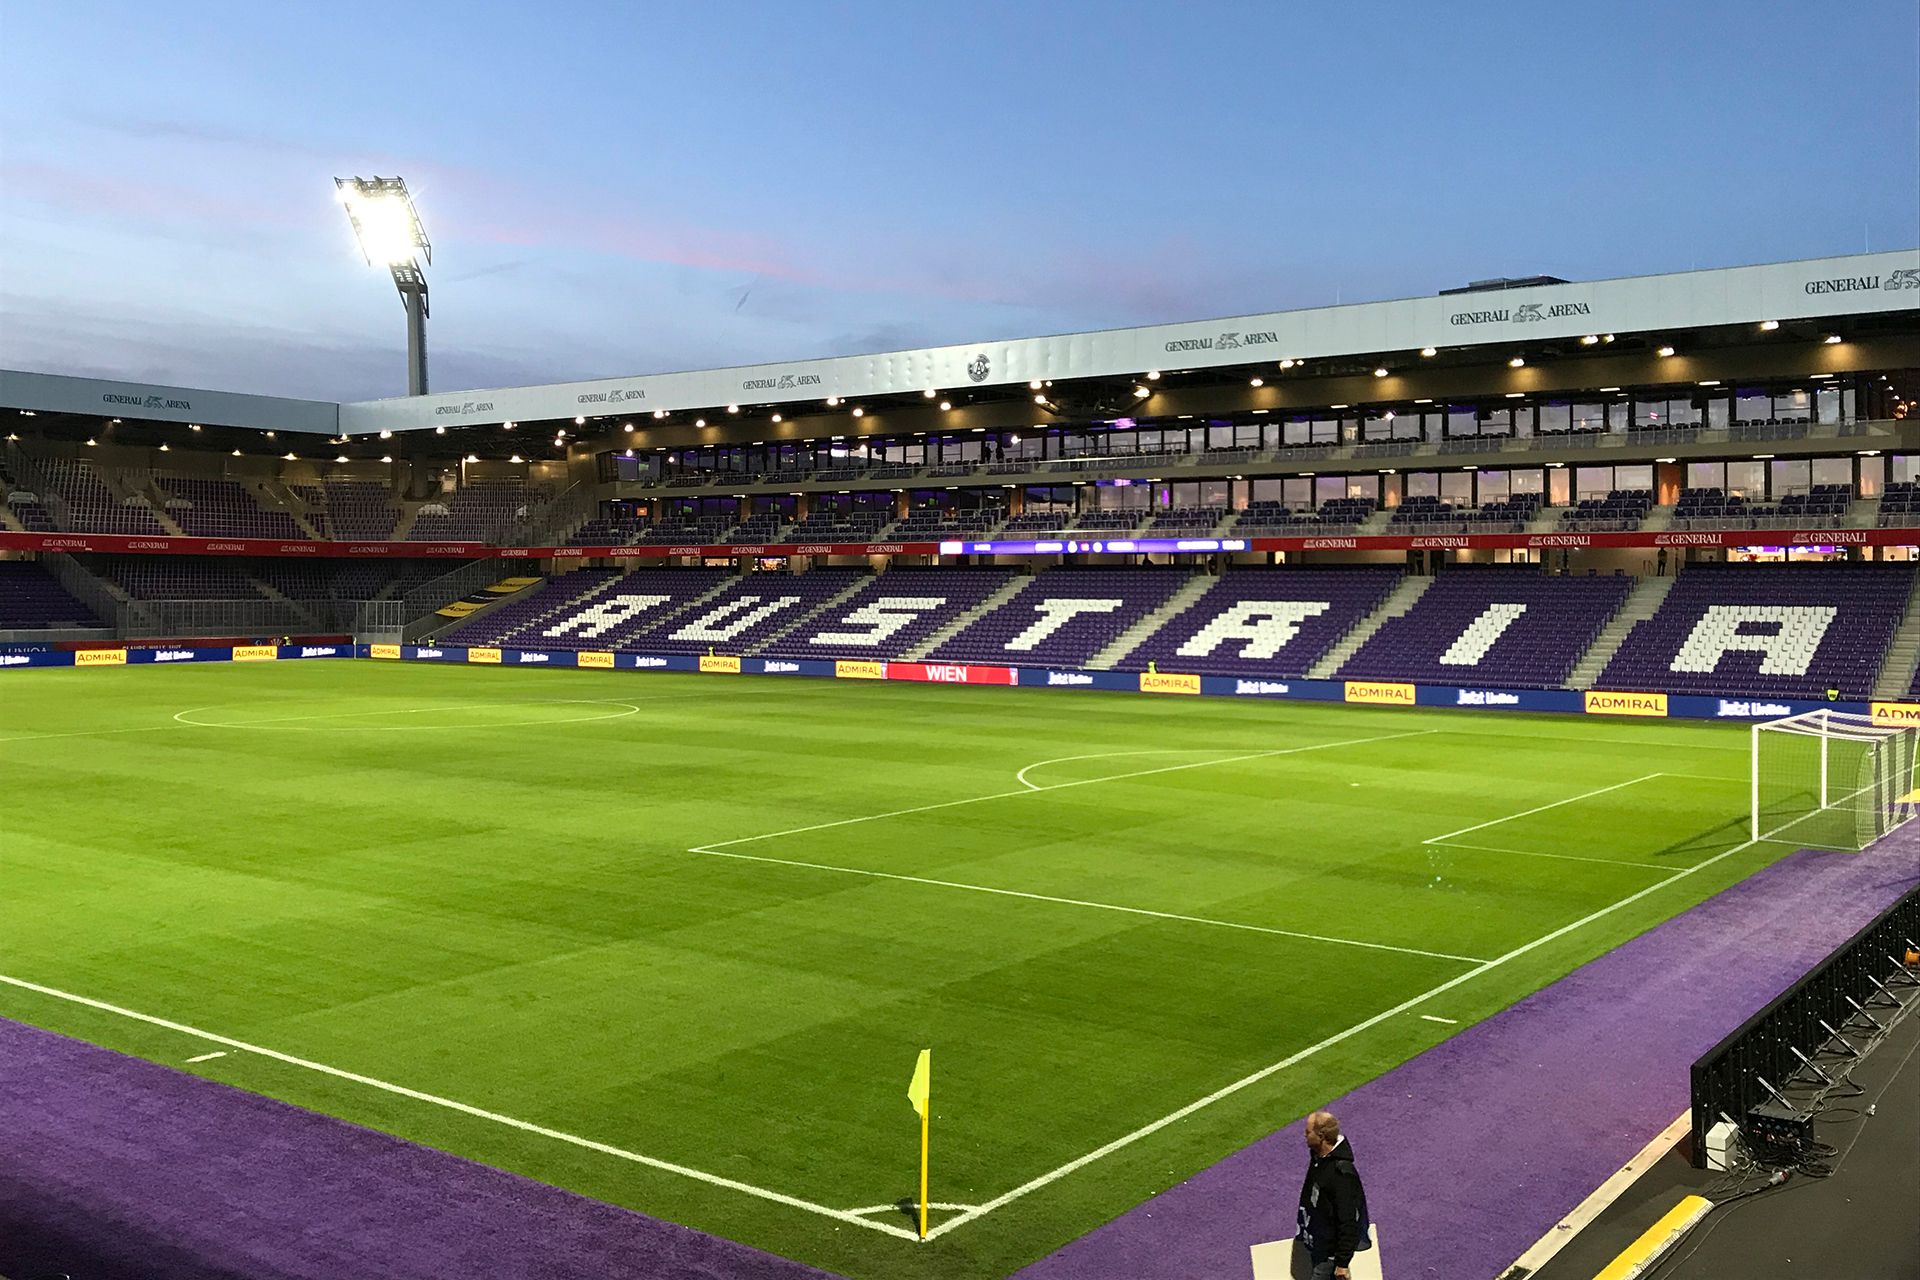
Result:
M900 658L1014 578L1006 568L897 568L806 618L762 656Z

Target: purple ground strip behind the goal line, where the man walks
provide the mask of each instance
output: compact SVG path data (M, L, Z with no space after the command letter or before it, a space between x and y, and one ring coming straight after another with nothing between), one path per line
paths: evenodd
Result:
M1686 1111L1695 1057L1916 885L1912 829L1791 854L1332 1100L1386 1274L1494 1280ZM1016 1280L1250 1276L1304 1169L1294 1121Z

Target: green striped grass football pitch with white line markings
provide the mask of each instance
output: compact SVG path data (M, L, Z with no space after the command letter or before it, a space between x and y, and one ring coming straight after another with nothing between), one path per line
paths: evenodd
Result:
M19 672L0 1015L860 1280L1002 1276L1786 852L1745 770L1645 720Z

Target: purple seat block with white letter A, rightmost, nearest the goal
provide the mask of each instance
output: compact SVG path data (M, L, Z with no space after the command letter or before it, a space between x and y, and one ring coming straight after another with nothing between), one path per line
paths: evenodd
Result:
M1862 699L1912 581L1912 564L1693 566L1596 687Z

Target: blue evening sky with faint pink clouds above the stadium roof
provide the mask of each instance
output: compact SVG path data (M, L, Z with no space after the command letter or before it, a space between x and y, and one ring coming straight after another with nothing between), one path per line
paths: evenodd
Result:
M0 0L0 365L359 399L1920 244L1920 6Z

